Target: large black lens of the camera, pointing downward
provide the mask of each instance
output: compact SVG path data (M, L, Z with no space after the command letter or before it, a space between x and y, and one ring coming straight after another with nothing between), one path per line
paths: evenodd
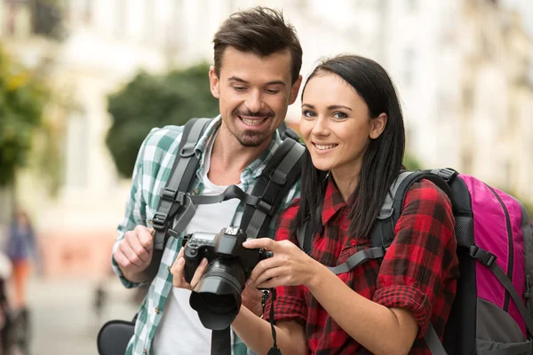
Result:
M235 258L218 257L208 265L189 300L203 327L229 327L241 308L245 281L243 265Z

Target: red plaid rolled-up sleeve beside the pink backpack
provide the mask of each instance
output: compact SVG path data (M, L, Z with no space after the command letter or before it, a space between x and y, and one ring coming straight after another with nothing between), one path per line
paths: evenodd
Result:
M418 337L426 334L433 316L444 324L449 314L453 299L444 290L455 291L458 273L454 225L445 193L427 180L413 185L378 273L374 302L409 310L418 322Z

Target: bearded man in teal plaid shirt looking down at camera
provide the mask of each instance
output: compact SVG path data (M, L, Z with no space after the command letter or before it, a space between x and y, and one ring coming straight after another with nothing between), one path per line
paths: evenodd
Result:
M294 28L282 14L257 7L237 12L214 36L214 66L209 78L212 95L219 99L220 115L195 146L200 157L192 193L219 194L227 185L251 193L261 171L281 145L277 127L283 122L301 83L302 49ZM146 270L153 254L151 225L159 191L169 178L183 127L152 130L139 150L125 218L118 227L113 267L127 288L147 282ZM299 195L292 186L278 206L275 219ZM240 225L244 205L238 200L199 205L185 233L218 233ZM182 233L181 238L184 233ZM209 354L211 331L204 328L189 306L190 291L172 288L171 265L178 256L181 238L170 238L155 280L141 306L127 353ZM261 293L246 289L243 304L262 313ZM232 336L234 354L246 347Z

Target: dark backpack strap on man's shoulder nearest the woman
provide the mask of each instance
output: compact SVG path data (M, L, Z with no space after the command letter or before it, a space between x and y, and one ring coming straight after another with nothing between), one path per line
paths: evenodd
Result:
M274 152L251 192L253 196L259 197L257 205L248 205L244 209L241 229L248 237L267 235L268 225L276 209L298 180L305 150L296 140L286 138Z

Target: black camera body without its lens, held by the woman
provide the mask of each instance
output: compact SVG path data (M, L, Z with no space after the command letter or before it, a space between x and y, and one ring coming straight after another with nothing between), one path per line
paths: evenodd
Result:
M259 261L267 258L267 253L263 248L244 248L243 242L247 239L246 233L237 227L223 228L219 233L187 234L183 240L185 280L189 283L193 280L203 257L210 264L215 258L234 259L242 265L245 278L248 279Z

